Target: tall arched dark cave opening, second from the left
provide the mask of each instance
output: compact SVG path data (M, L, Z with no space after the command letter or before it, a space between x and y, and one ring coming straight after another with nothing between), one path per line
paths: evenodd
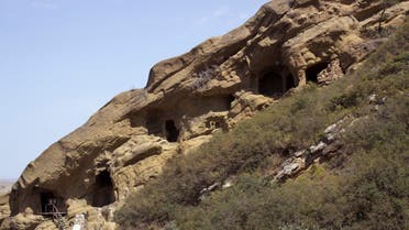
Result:
M103 207L115 201L113 184L110 173L104 169L96 177L95 194L92 197L93 207Z

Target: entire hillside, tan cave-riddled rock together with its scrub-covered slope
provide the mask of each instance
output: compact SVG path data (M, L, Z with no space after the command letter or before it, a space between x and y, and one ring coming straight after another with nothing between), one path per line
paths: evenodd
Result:
M267 2L31 162L0 229L407 228L408 13Z

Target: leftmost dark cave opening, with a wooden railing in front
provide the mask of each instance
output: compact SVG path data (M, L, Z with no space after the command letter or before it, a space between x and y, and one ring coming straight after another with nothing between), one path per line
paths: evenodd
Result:
M40 193L40 215L48 216L54 213L65 215L67 207L63 198L55 196L53 191L43 190Z

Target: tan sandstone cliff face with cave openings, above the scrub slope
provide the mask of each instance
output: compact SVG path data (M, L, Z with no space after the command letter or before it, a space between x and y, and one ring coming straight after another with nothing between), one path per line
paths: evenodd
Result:
M266 3L244 25L156 64L144 89L118 95L30 163L0 229L49 229L40 224L49 200L68 219L88 212L89 224L109 222L173 156L308 81L324 85L353 70L383 42L379 22L385 34L408 10L408 1Z

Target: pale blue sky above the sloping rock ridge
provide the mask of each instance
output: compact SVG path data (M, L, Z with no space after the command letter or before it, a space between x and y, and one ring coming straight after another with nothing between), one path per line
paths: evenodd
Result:
M0 0L0 178L267 0Z

